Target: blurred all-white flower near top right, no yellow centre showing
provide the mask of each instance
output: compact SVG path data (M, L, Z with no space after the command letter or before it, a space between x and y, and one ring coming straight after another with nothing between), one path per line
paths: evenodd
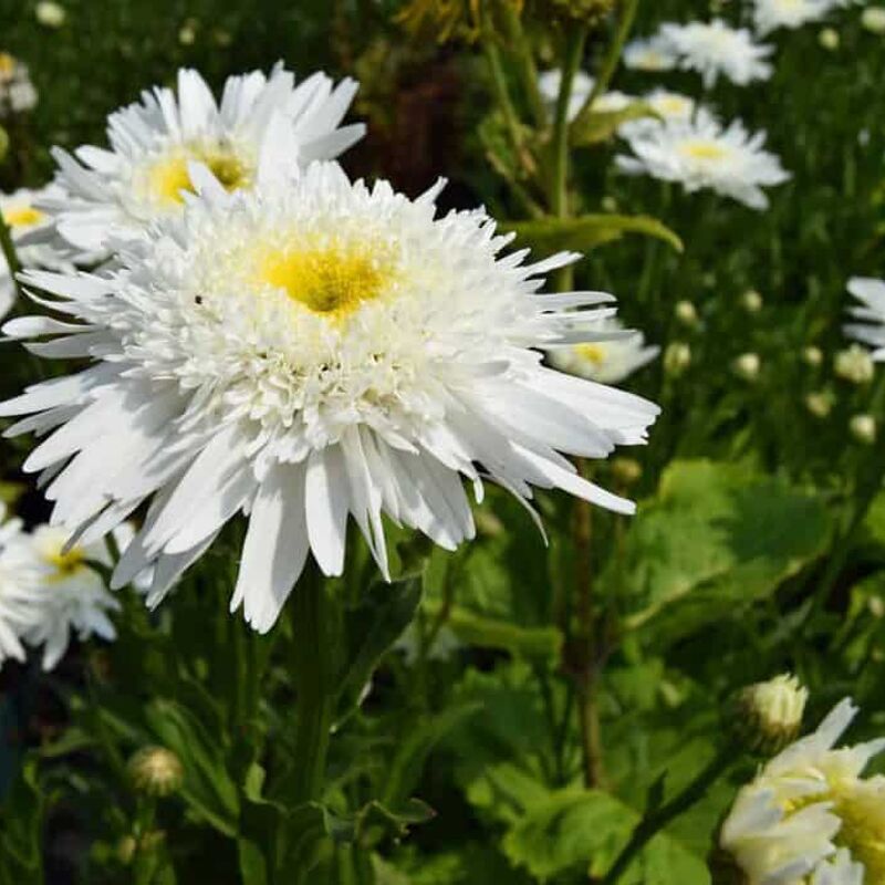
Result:
M768 80L773 67L766 61L773 46L753 42L746 28L729 28L721 19L709 23L663 24L660 39L671 48L678 65L697 71L707 88L723 76L739 86Z

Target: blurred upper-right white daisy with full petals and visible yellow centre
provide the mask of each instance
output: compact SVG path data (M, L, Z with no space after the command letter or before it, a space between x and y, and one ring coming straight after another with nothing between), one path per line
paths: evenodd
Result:
M635 156L620 156L616 163L632 175L678 181L689 194L709 188L752 209L766 209L762 186L780 185L790 174L762 148L764 140L764 133L751 135L740 121L723 128L700 108L690 121L665 121L636 133L629 138Z

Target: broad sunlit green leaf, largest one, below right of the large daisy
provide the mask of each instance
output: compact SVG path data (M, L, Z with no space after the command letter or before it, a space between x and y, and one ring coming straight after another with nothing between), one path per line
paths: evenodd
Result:
M622 568L603 584L626 597L625 627L656 647L733 616L826 549L822 501L740 466L676 461L639 508Z

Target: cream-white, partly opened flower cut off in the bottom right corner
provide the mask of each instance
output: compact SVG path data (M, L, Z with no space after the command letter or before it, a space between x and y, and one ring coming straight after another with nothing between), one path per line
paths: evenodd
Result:
M866 882L885 876L885 778L862 779L885 739L833 747L857 712L845 699L818 730L770 760L745 787L722 825L720 843L748 876L749 885L795 883L836 847L835 858L812 882L854 882L862 864Z

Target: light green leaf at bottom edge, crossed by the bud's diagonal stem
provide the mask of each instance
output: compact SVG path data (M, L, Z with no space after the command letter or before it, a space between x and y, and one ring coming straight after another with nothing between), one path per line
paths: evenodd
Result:
M542 882L584 871L600 876L626 843L639 814L601 790L568 788L532 804L508 831L507 856ZM666 832L658 833L641 853L623 882L706 885L707 866Z

